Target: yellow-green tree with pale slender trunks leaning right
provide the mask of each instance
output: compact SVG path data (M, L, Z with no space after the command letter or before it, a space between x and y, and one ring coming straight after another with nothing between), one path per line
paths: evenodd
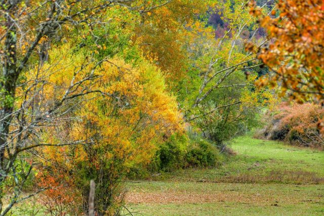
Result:
M267 89L256 89L254 70L262 64L244 50L247 41L264 42L255 38L259 26L246 1L224 1L216 11L227 30L216 41L205 36L192 47L195 67L183 82L183 104L186 121L195 121L205 137L222 147L223 141L255 125L259 109L274 100Z

